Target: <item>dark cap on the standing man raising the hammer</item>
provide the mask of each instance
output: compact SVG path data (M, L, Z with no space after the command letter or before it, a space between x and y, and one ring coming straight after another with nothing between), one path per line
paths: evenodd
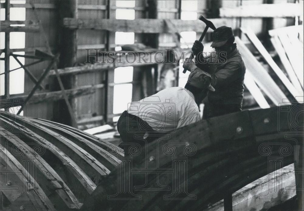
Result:
M219 28L216 28L216 30L213 31L212 38L213 42L211 44L211 47L220 47L226 44L229 38L234 37L232 28L227 26L221 26Z

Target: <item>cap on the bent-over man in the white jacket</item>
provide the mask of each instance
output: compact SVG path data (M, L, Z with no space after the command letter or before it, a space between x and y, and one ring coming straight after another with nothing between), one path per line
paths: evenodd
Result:
M188 83L198 89L204 90L209 89L212 92L215 91L215 89L211 85L212 77L209 73L204 72L198 68L191 71L189 77L188 77Z

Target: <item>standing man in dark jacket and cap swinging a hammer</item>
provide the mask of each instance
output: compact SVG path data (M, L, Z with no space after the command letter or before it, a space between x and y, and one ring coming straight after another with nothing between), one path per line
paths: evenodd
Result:
M216 57L203 58L204 46L196 40L192 52L196 56L196 65L212 76L211 85L215 92L208 92L208 101L204 109L204 118L221 116L242 110L244 96L244 75L246 67L242 56L234 43L232 28L221 26L212 34L211 47Z

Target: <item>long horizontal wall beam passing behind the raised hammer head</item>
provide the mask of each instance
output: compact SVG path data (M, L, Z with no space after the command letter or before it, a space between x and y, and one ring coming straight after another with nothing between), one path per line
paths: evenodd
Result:
M216 27L222 25L233 26L231 18L213 18L209 19ZM206 24L200 20L183 21L180 19L171 20L177 26L178 32L195 31L202 32ZM119 20L119 19L90 19L81 20L76 18L64 18L64 27L70 29L98 29L108 30L112 32L136 32L136 33L168 33L170 32L164 19L135 19L135 20ZM212 29L209 30L212 32ZM174 32L173 32L174 33Z

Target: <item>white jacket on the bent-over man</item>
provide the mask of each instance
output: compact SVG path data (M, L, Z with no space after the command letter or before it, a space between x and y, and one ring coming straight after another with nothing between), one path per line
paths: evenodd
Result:
M200 120L192 92L181 87L163 89L128 106L128 113L145 120L154 130L174 132Z

